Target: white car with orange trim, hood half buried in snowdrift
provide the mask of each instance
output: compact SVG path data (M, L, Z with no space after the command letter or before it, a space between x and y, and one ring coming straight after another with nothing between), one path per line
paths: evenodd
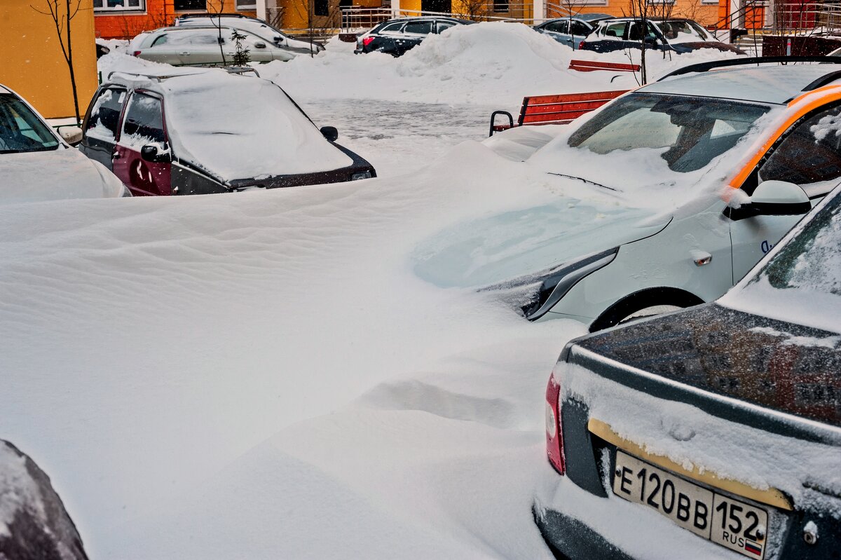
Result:
M590 330L720 297L841 182L836 68L751 64L686 66L567 125L521 164L546 203L434 235L415 273Z

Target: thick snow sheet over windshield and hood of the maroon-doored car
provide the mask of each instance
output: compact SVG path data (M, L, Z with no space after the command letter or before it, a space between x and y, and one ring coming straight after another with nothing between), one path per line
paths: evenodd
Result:
M225 180L352 164L271 82L221 71L165 82L175 154Z

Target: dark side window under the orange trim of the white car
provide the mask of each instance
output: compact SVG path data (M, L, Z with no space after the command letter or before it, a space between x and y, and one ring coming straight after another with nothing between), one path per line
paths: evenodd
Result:
M759 181L788 181L810 196L828 193L841 179L841 105L795 124L767 161Z

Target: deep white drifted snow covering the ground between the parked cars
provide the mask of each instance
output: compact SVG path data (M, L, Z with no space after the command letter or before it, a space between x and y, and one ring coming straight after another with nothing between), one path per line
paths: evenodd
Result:
M258 70L378 179L0 207L3 438L91 557L550 557L543 394L584 327L436 288L411 255L555 199L512 161L536 138L475 141L486 108L633 77L566 71L572 51L515 24L350 50Z

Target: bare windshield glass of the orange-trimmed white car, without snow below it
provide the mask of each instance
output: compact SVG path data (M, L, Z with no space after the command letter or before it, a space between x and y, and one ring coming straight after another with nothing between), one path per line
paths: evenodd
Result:
M674 172L691 172L733 148L770 107L717 98L634 93L569 137L596 154L653 148Z

